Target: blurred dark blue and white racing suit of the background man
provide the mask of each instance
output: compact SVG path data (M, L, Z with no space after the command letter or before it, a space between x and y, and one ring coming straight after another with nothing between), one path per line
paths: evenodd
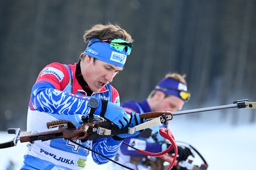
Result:
M141 102L138 101L126 101L124 102L121 107L124 108L126 113L147 113L152 112L147 100L143 100ZM165 127L165 126L163 126ZM150 128L151 134L149 136L152 136L155 134L155 138L157 141L164 141L165 139L160 136L158 133L159 126ZM145 131L144 131L145 132ZM161 152L162 150L165 150L166 148L162 148L162 145L159 144L159 142L156 142L154 139L145 137L143 135L143 132L136 137L127 137L124 139L124 142L128 143L129 145L134 146L135 148L149 151L149 152ZM131 157L147 157L145 155L142 155L135 151L134 149L128 147L127 145L121 145L121 149L118 151L118 153L115 155L115 161L118 161L119 163L126 165L130 168L133 168L135 170L149 170L149 167L146 167L142 164L134 164L131 161ZM123 167L120 167L112 162L108 163L109 170L126 170Z

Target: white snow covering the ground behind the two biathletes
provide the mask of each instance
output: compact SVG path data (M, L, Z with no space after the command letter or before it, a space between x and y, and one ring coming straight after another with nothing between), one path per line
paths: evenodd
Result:
M255 170L256 158L256 125L231 126L210 122L196 122L175 119L170 122L175 139L194 146L209 164L208 170ZM13 135L0 132L0 142L8 141ZM0 150L0 170L6 170L9 160L19 170L26 143ZM107 169L107 165L95 164L88 158L86 169Z

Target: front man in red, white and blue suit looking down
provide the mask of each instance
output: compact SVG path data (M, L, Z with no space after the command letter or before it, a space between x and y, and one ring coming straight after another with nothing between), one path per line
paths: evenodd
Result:
M117 90L109 84L122 71L131 52L131 36L119 25L107 24L94 25L85 31L83 38L88 47L78 63L50 63L40 71L30 96L27 131L47 129L46 123L53 120L71 120L77 127L81 126L81 117L91 111L88 104L91 98L99 101L94 114L120 129L145 121L138 113L128 117L120 107ZM111 158L128 136L121 134L84 143L75 141ZM83 170L88 154L88 150L64 139L34 141L27 144L22 170ZM108 162L95 153L92 157L97 164Z

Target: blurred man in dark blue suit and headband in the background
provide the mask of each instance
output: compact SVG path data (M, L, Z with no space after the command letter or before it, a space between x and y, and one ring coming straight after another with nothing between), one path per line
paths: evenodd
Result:
M189 100L189 97L190 93L187 88L185 75L169 73L155 86L155 89L148 95L147 99L143 101L126 101L121 106L126 113L175 112L182 109L184 103ZM159 128L153 127L150 130L144 130L144 132L136 137L126 138L124 142L144 151L164 151L169 145L159 135ZM170 151L170 153L174 153L174 150ZM178 146L178 161L186 160L189 155L192 155L192 153L188 147ZM115 155L115 160L135 170L155 169L151 166L150 159L147 156L138 153L127 145L121 145L121 149ZM112 162L108 163L108 167L109 170L124 170L124 168L117 167ZM157 170L162 169L157 167Z

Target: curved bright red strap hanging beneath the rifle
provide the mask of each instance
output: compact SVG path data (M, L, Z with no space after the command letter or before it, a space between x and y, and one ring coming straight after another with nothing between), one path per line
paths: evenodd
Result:
M176 157L177 157L177 154L178 154L177 144L175 142L175 139L174 139L174 136L173 136L172 132L169 129L166 132L166 128L162 127L162 128L159 129L159 134L163 138L168 139L171 142L171 145L165 151L158 152L158 153L152 153L152 152L142 151L140 149L137 149L137 152L139 152L139 153L141 153L143 155L150 156L150 157L160 157L160 156L168 153L169 151L171 151L172 148L174 148L175 153L174 153L173 161L168 166L168 168L166 169L166 170L170 170L173 167L173 165L175 164L175 160L176 160Z

